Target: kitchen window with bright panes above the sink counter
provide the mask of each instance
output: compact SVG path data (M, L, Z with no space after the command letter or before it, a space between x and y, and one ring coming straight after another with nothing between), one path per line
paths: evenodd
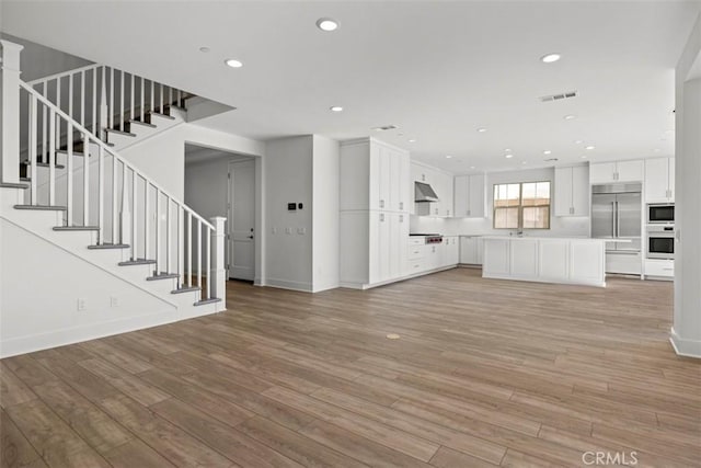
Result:
M550 229L550 182L494 185L494 229Z

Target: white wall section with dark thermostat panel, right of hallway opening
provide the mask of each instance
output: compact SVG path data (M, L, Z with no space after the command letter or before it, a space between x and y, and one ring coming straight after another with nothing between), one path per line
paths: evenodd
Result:
M311 135L266 144L264 217L267 227L267 285L300 290L313 288L312 156ZM288 203L301 203L302 209L289 212Z

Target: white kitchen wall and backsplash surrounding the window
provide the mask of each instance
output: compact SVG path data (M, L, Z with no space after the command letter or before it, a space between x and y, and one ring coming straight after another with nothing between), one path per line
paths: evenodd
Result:
M457 235L503 235L508 230L493 229L492 210L494 206L493 185L509 182L541 182L550 181L551 218L550 229L526 229L533 236L542 237L588 237L588 217L555 217L555 170L553 168L527 169L521 171L492 172L486 176L486 218L430 218L412 216L410 229L412 232L437 232L444 236Z

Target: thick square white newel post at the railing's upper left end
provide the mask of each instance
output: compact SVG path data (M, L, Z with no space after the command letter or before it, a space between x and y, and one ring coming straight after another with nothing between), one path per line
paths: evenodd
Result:
M1 41L0 182L20 182L20 44Z

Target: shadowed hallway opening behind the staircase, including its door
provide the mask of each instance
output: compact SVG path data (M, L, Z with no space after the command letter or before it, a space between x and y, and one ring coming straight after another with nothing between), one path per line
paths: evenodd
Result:
M185 145L185 204L205 219L227 218L227 277L256 275L255 157Z

